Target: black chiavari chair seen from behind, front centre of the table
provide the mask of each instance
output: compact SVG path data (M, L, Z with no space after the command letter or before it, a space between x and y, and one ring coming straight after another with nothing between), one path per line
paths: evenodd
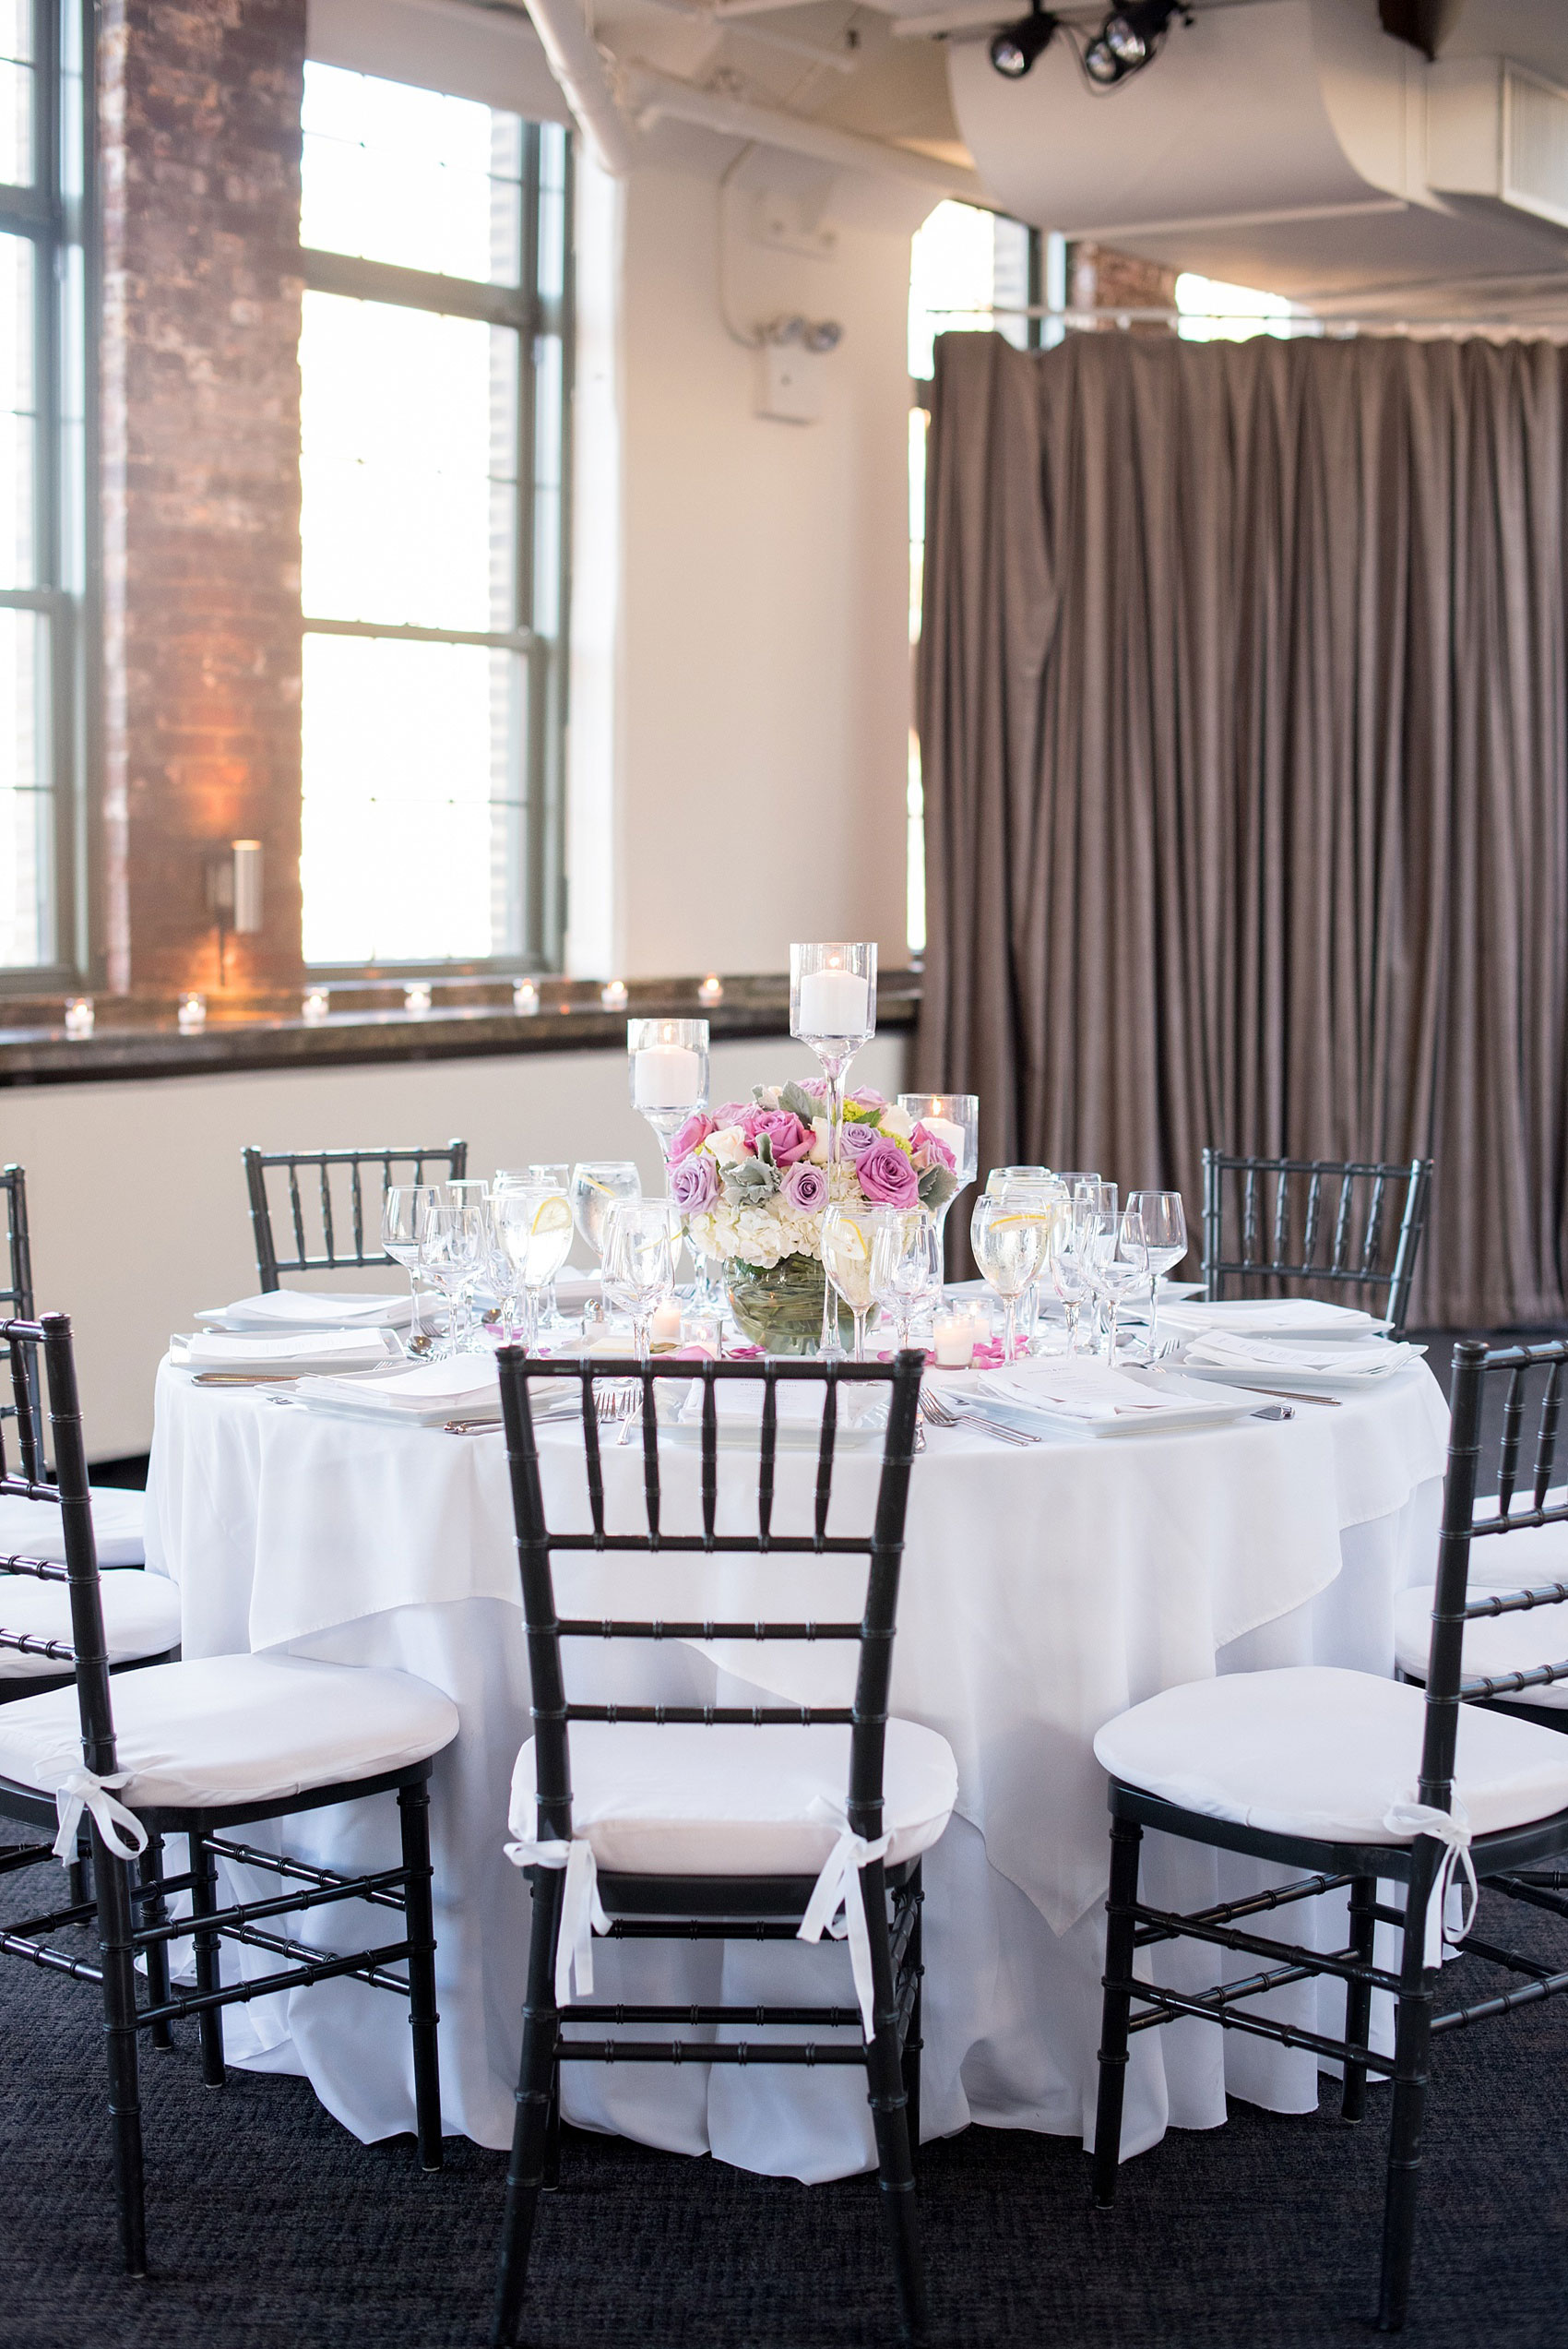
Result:
M512 1828L523 1837L512 1846L528 1865L533 1889L533 1938L528 1950L528 2004L523 2008L523 2058L516 2091L516 2133L507 2178L507 2208L495 2300L493 2340L516 2342L523 2286L540 2189L554 2178L559 2133L559 2074L563 2062L725 2062L725 2065L859 2065L878 2147L883 2210L892 2236L901 2323L911 2340L925 2337L927 2302L915 2227L913 2152L920 2138L920 1853L937 1842L953 1809L958 1773L948 1745L930 1729L887 1717L887 1684L904 1553L908 1466L915 1445L920 1395L918 1353L899 1353L885 1365L824 1362L573 1362L582 1386L582 1442L592 1532L552 1532L545 1517L540 1461L528 1400L533 1379L561 1379L559 1360L500 1353L500 1393L516 1513L516 1555L528 1623L533 1675L533 1750L523 1748L514 1781ZM702 1532L667 1532L660 1482L660 1423L655 1391L662 1381L702 1384ZM641 1470L646 1529L606 1532L603 1463L599 1452L596 1384L634 1379L641 1386ZM718 1388L721 1381L761 1384L756 1532L721 1534L718 1515ZM822 1391L817 1438L815 1517L810 1534L775 1532L777 1402L782 1381L810 1381ZM838 1407L845 1393L887 1395L887 1435L878 1485L876 1525L869 1534L829 1534L833 1496L833 1449ZM643 1557L653 1597L660 1560L711 1557L735 1562L861 1557L864 1602L857 1621L671 1621L617 1618L577 1621L556 1614L554 1555ZM854 1602L852 1602L854 1604ZM843 1609L847 1616L850 1609ZM857 1680L852 1705L681 1705L681 1703L575 1703L566 1694L561 1647L566 1640L822 1640L854 1642ZM575 1731L575 1734L573 1734ZM803 1734L810 1748L798 1745ZM688 1858L681 1872L660 1867L660 1837L638 1849L636 1788L638 1741L657 1741L660 1781L690 1785L690 1818L683 1816ZM810 1750L810 1762L805 1752ZM746 1771L768 1769L777 1790L779 1771L800 1771L803 1788L819 1783L833 1825L807 1811L786 1823L786 1844L768 1846L765 1816L746 1811ZM847 1790L847 1799L845 1799ZM617 1802L631 1811L617 1818ZM519 1818L519 1802L526 1804ZM608 1823L608 1825L606 1825ZM587 1886L573 1889L577 1853L594 1853L601 1832L615 1837L615 1865L589 1858ZM883 1837L892 1835L885 1846ZM711 1865L695 1867L690 1846L704 1846ZM746 1849L749 1846L749 1849ZM782 1856L782 1851L786 1856ZM768 1853L768 1856L763 1856ZM831 1853L824 1865L824 1853ZM669 1844L664 1844L669 1858ZM570 1964L573 1943L587 1940L584 1914L568 1912L589 1898L596 1870L601 1924L620 1940L791 1940L810 1931L817 1896L819 1921L829 1870L840 1867L847 1931L857 1961L857 2006L627 2006L566 2004L561 1954ZM829 1912L836 1898L826 1893ZM892 1914L890 1914L892 1907ZM566 1919L566 1936L563 1936ZM864 1938L861 1938L864 1919ZM566 1938L566 1952L561 1943ZM580 1983L582 1987L582 1983ZM589 2034L570 2025L589 2025ZM606 2032L594 2037L592 2027ZM613 2027L742 2027L744 2039L613 2037ZM775 2030L805 2032L770 2039ZM815 2037L817 2032L826 2037ZM756 2034L756 2037L753 2037ZM845 2037L852 2034L852 2037Z

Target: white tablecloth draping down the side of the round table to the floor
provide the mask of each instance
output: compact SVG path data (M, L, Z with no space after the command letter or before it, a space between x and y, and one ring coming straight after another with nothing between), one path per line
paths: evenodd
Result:
M1214 1672L1340 1663L1390 1672L1392 1604L1430 1576L1448 1414L1425 1365L1340 1407L1162 1435L1005 1447L927 1431L911 1478L894 1651L894 1710L958 1757L958 1811L925 1858L922 2133L969 2121L1094 2131L1108 1865L1094 1731L1160 1689ZM587 1525L582 1433L540 1428L552 1525ZM662 1442L667 1529L697 1527L697 1454ZM646 1525L641 1445L606 1440L613 1532ZM782 1454L775 1529L807 1529L815 1454ZM831 1532L871 1525L878 1449L840 1449ZM721 1454L721 1532L756 1527L756 1452ZM507 2145L528 1950L526 1879L502 1853L507 1788L528 1736L528 1665L502 1435L383 1428L197 1388L162 1365L148 1480L148 1567L181 1590L185 1656L286 1651L399 1665L446 1689L462 1719L432 1783L441 2100L448 2131ZM859 1607L859 1560L568 1553L561 1604L615 1609L629 1574L646 1611L751 1621L836 1590ZM845 1593L845 1571L854 1576ZM763 1583L765 1574L765 1583ZM768 1588L768 1600L763 1600ZM681 1597L676 1597L681 1593ZM761 1604L758 1604L761 1602ZM568 1687L606 1701L843 1701L852 1651L657 1649L570 1642ZM641 1675L641 1677L634 1677ZM1411 1757L1415 1766L1415 1757ZM261 1832L261 1830L258 1830ZM277 1830L275 1830L277 1832ZM394 1865L392 1797L303 1813L289 1849L326 1865ZM1145 1896L1199 1907L1265 1882L1258 1863L1148 1837ZM235 1870L244 1879L242 1870ZM244 1889L244 1884L242 1884ZM261 1891L261 1884L254 1884ZM272 1884L265 1886L275 1889ZM1343 1947L1343 1896L1286 1912L1279 1931ZM350 1921L352 1919L352 1921ZM291 1931L350 1947L376 1912L305 1912ZM1157 1952L1174 1985L1211 1954ZM225 1966L268 1959L230 1952ZM1251 1966L1237 1959L1237 1966ZM843 1971L843 1983L838 1980ZM596 2001L852 2001L843 1945L599 1943ZM1343 1992L1300 1985L1272 2008L1338 2027ZM408 2034L387 1997L336 1980L225 2018L230 2060L303 2072L361 2140L413 2128ZM1317 2105L1317 2062L1235 2032L1178 2022L1134 2041L1124 2152L1167 2126L1211 2128L1225 2093L1277 2112ZM873 2166L864 2081L845 2069L568 2065L563 2112L678 2152L803 2180Z

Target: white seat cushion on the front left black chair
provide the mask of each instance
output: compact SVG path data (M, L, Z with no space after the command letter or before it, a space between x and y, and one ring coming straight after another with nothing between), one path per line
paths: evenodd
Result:
M411 1672L305 1656L153 1663L113 1684L131 1809L277 1802L338 1778L423 1762L458 1736L458 1708ZM52 1795L82 1762L75 1689L0 1705L0 1778Z

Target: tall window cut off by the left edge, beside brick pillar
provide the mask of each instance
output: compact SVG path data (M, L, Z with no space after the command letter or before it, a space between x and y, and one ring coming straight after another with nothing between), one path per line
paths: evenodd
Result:
M0 970L75 965L82 19L0 0Z

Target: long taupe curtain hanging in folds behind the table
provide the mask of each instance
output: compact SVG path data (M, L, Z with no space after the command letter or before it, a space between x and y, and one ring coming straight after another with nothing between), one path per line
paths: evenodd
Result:
M918 1081L981 1170L1437 1158L1415 1308L1561 1318L1568 359L937 345Z

